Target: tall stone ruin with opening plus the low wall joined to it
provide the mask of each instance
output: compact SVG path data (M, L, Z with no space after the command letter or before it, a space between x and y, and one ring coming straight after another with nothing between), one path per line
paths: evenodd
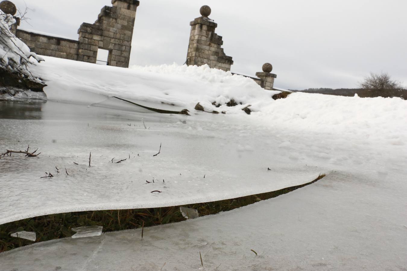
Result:
M139 4L138 0L112 0L113 7L103 7L94 24L80 26L79 40L20 29L16 30L16 36L37 54L89 63L96 63L98 49L108 50L107 65L127 68Z

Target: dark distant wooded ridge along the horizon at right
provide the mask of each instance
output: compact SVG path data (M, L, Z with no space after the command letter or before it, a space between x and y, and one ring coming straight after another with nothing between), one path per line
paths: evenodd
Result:
M290 89L291 90L291 89ZM295 92L305 92L305 93L321 93L327 95L338 95L338 96L354 96L355 93L359 97L400 97L407 100L407 89L383 89L383 90L368 90L368 89L304 89L304 90L291 90Z

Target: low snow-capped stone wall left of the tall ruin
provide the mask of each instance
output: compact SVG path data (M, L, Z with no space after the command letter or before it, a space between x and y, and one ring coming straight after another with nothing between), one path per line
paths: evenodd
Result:
M26 30L17 29L16 36L21 39L31 51L43 55L63 59L77 60L79 41L52 37Z

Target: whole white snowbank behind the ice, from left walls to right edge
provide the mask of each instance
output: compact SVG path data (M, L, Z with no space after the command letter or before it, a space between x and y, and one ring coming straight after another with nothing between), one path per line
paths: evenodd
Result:
M187 108L194 111L199 102L208 111L240 115L247 105L250 118L258 125L300 131L354 134L359 138L406 144L407 102L400 98L358 98L310 93L292 93L274 101L278 91L266 91L252 79L208 66L161 65L131 69L94 65L44 57L33 67L34 74L46 80L48 99L81 104L109 102L109 96L146 102L149 106ZM230 99L242 105L228 107ZM222 104L216 108L212 105ZM127 109L131 109L127 107ZM168 108L166 108L168 109Z

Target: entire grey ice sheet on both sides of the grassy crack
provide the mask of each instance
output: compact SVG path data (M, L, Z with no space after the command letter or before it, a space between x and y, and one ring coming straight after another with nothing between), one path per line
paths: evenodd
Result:
M57 102L0 103L0 113L0 150L30 144L42 152L0 160L0 224L70 210L206 202L328 173L275 199L145 229L143 240L140 230L129 230L14 249L0 254L0 270L203 270L199 252L205 270L406 268L403 133L401 141L379 141L385 130L360 137L351 128L300 131L289 121L282 128L251 116L159 115ZM40 179L49 171L54 178Z

